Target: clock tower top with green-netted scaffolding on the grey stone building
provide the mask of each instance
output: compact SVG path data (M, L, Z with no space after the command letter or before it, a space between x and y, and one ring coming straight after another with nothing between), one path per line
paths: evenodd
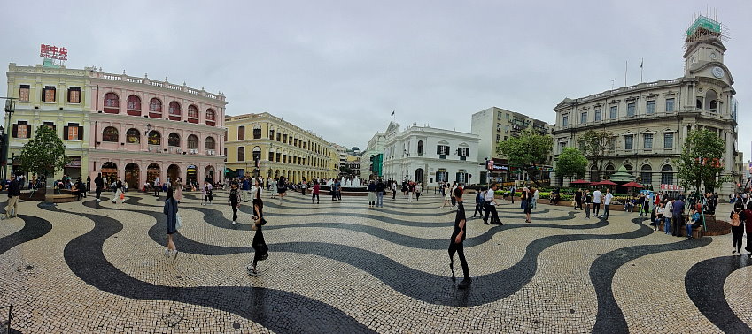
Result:
M689 76L690 72L705 67L709 63L723 65L726 50L723 40L725 40L725 35L720 22L702 15L695 19L686 29L685 76ZM724 68L719 66L713 67L711 71L712 75L718 79L724 76L724 72Z

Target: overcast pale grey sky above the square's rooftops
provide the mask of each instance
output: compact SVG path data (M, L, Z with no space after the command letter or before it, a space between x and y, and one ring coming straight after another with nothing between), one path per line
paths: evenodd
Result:
M106 4L105 4L106 3ZM524 4L523 4L524 3ZM536 4L537 3L537 4ZM497 106L549 123L565 97L683 75L683 34L708 1L6 2L0 63L41 63L223 92L227 113L267 111L325 140L365 148L396 110L469 132ZM729 27L740 125L752 116L752 3L718 2ZM713 9L711 8L711 11ZM5 81L2 83L5 91ZM740 133L745 160L752 135Z

